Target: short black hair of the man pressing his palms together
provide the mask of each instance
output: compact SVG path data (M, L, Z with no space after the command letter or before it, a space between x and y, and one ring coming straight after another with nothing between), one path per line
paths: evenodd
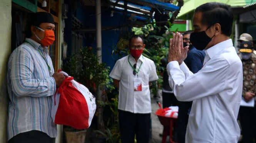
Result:
M209 2L198 6L195 12L197 11L202 12L202 24L210 27L219 23L222 33L226 36L231 35L234 19L231 6L225 3Z

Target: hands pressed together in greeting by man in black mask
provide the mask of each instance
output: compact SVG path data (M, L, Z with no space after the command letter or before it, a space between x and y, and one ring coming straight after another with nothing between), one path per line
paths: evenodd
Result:
M181 33L176 32L170 39L168 63L172 61L179 62L179 65L186 59L189 46L183 48L183 38Z

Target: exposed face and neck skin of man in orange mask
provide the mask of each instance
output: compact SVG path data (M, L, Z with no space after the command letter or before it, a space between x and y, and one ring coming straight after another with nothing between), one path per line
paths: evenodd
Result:
M41 23L39 25L39 28L41 28L43 30L55 31L55 25L52 23ZM41 43L41 41L37 38L37 37L39 37L40 39L44 39L44 37L45 37L44 31L38 29L36 26L31 26L31 32L32 32L32 36L30 37L30 39L41 44L44 47L44 45ZM37 37L35 36L35 34L37 34Z

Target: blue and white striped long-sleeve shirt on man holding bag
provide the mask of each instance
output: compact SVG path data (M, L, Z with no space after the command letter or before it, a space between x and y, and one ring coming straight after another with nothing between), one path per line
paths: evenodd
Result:
M57 126L50 114L51 96L56 89L52 73L54 67L47 47L32 39L27 38L12 52L7 72L8 140L31 130L42 131L52 138L57 136Z

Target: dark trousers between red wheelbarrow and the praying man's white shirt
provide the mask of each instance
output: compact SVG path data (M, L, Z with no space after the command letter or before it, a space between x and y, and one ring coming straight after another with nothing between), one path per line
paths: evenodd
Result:
M187 122L189 119L189 108L192 106L191 102L179 101L179 116L178 116L178 143L185 143L185 136L187 130Z

